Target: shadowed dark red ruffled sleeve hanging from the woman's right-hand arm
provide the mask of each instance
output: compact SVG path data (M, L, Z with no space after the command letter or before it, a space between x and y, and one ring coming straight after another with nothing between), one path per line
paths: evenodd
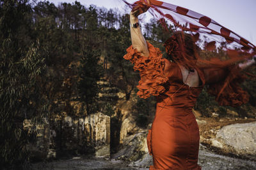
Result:
M208 92L216 96L216 101L221 106L237 107L249 101L249 95L240 85L246 79L246 76L241 73L241 68L238 65L228 67L230 71L225 80L214 83L209 86Z

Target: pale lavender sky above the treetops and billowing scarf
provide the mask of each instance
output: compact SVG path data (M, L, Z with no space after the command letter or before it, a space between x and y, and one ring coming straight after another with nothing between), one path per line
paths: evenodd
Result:
M48 0L56 5L75 0ZM85 6L95 4L99 7L125 9L122 0L77 0ZM129 3L135 1L127 0ZM188 8L212 18L219 24L236 32L238 35L256 45L256 0L161 0Z

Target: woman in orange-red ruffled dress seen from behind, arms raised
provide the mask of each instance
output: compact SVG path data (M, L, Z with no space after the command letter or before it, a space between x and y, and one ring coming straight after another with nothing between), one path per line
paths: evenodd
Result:
M193 38L182 32L175 33L164 43L174 62L164 59L159 48L145 41L141 33L138 15L147 10L147 6L136 6L130 13L132 45L127 48L124 58L140 71L138 96L157 96L156 115L147 136L148 151L154 162L150 169L201 169L197 164L199 129L192 113L196 98L207 84L210 85L209 92L218 96L220 104L237 106L246 103L248 94L235 81L243 76L228 73L230 70L240 71L254 64L255 60L237 66L197 66ZM223 91L227 80L230 85Z

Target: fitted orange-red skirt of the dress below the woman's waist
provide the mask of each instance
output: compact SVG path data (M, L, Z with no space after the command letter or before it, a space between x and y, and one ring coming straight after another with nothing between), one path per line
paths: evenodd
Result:
M148 152L154 162L150 169L201 169L197 164L199 140L192 112L156 114L147 136Z

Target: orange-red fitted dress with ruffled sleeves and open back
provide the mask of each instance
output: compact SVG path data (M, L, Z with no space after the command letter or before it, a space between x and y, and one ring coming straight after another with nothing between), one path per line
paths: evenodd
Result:
M192 108L205 85L205 74L209 82L214 75L212 74L213 77L209 78L209 71L196 69L200 86L189 87L182 81L179 66L175 62L164 59L159 48L155 48L150 43L147 45L149 57L143 57L140 52L130 46L124 58L134 64L134 70L140 71L138 96L142 98L157 96L156 115L147 135L148 152L153 156L154 162L154 166L150 166L150 169L201 169L197 164L199 129ZM228 71L225 69L218 71L222 76L215 78L225 80ZM216 84L212 82L210 84L213 89L217 88ZM221 82L218 84L221 87ZM228 88L229 90L237 89ZM248 101L246 98L248 96L244 93L245 96L239 95L241 89L239 90L236 91L237 97L241 97L242 103L245 103ZM210 91L214 94L214 90ZM224 98L221 96L218 99L220 102L229 100L227 97Z

